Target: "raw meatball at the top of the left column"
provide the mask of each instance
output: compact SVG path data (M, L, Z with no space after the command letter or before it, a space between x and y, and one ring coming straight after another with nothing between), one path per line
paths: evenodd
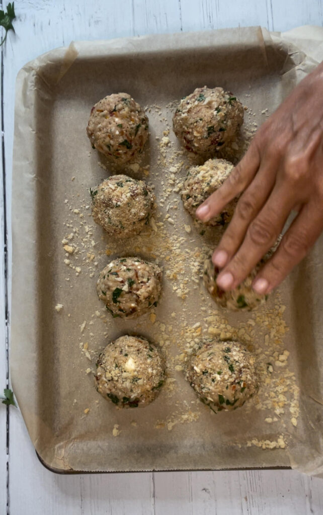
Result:
M127 93L116 93L92 107L87 127L92 145L115 164L142 152L148 138L148 118Z

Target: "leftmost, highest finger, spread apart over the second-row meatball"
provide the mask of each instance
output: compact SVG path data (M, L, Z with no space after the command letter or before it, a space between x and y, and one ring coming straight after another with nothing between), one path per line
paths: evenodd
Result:
M196 216L206 222L218 215L230 200L245 190L256 175L259 164L258 146L252 142L240 163L232 169L228 179L197 208Z

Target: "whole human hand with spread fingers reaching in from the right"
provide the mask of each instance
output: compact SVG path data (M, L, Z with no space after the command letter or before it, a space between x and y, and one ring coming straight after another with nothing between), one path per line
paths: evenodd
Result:
M243 192L243 193L242 193ZM217 284L238 286L275 244L291 211L298 215L252 283L268 294L299 263L323 230L323 63L260 127L229 178L196 210L202 221L241 195L212 261Z

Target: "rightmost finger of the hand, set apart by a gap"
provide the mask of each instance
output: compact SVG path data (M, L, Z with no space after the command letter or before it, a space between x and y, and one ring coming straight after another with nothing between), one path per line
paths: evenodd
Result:
M273 255L253 281L253 289L268 294L278 286L314 245L323 230L321 205L305 204L293 224L284 234Z

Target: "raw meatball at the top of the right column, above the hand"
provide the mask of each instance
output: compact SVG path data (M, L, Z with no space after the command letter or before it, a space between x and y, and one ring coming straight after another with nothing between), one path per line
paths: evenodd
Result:
M212 155L237 135L243 123L241 102L223 88L197 88L181 99L174 132L190 152Z

